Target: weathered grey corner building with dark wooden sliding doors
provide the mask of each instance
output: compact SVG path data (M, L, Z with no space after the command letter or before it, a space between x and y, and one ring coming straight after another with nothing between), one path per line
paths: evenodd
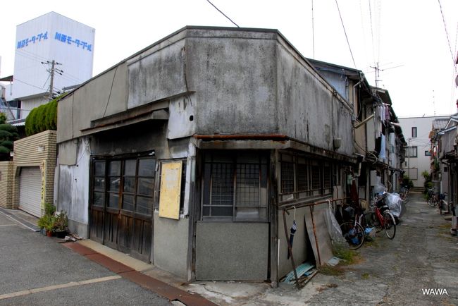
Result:
M368 86L346 99L278 30L183 27L58 102L58 209L187 280L275 284L291 271L283 209L347 196ZM294 212L300 263L312 209Z

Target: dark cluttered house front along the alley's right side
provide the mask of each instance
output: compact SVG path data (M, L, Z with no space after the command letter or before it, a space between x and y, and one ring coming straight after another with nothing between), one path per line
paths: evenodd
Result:
M433 187L438 192L447 192L447 200L454 203L458 201L457 125L457 114L448 119L435 119L430 133Z

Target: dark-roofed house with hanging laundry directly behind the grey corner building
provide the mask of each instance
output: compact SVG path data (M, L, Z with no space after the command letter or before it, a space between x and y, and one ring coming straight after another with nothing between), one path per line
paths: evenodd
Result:
M359 197L371 199L373 188L380 184L397 192L405 140L388 90L371 87L364 73L357 69L309 61L353 108L354 152L360 162L353 178Z

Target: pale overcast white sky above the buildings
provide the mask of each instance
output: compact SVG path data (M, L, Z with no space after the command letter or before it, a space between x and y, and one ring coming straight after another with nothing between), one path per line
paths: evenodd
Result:
M306 57L356 63L374 86L378 62L379 87L390 92L397 116L457 110L457 0L440 0L445 23L438 0L338 0L354 62L335 0L313 1L313 23L311 0L211 2L240 27L278 29ZM16 25L49 11L95 28L94 75L185 25L234 26L206 0L16 0L0 11L1 77L13 74Z

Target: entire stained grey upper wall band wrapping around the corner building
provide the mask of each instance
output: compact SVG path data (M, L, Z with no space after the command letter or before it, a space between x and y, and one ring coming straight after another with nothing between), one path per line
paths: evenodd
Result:
M190 99L172 101L187 91ZM174 104L171 139L280 133L333 150L340 137L338 152L353 152L351 109L273 30L187 28L167 37L61 100L58 142L80 136L94 119L159 99Z

